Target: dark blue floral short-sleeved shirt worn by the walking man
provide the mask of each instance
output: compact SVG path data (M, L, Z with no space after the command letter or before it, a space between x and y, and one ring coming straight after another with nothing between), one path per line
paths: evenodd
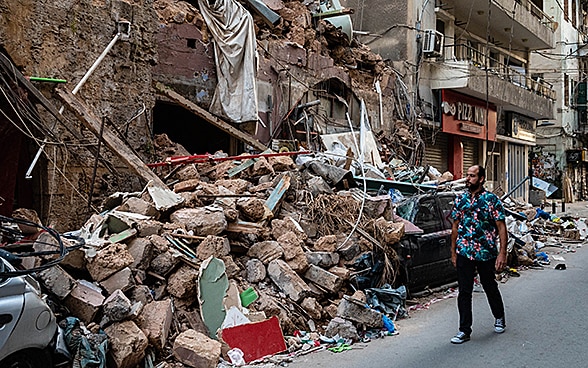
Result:
M456 251L473 261L489 261L498 256L496 221L504 221L500 199L486 190L472 195L465 191L455 198L451 218L459 221Z

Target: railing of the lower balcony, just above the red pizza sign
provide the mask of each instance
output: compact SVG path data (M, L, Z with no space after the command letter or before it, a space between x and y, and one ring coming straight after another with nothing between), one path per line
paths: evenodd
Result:
M488 70L491 75L509 81L510 83L538 94L539 96L555 100L556 96L555 91L553 90L553 85L541 80L541 78L533 79L527 74L516 70L516 66L503 64L499 60L489 57L485 53L469 45L457 44L452 46L448 45L446 47L455 48L455 59L453 60L469 61L470 64L480 68L480 70L483 70L484 72Z

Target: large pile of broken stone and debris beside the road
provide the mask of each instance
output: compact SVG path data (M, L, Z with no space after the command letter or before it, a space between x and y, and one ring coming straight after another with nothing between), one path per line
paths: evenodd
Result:
M164 148L165 137L157 142L162 151L181 151ZM150 354L216 366L234 353L231 342L251 333L231 329L252 323L265 324L253 333L298 336L264 353L294 351L305 341L308 348L309 336L357 341L381 330L385 314L366 308L367 292L353 293L352 275L365 271L355 264L386 249L388 272L378 286L393 284L388 246L404 226L390 220L391 199L381 196L363 206L356 227L364 235L350 235L363 192L352 180L345 184L351 189L338 190L349 177L334 180L327 169L308 158L298 166L290 156L166 168L161 176L173 191L148 185L111 195L104 212L76 232L85 245L40 280L64 314L104 331L113 367L133 367ZM41 234L34 247L51 244ZM247 362L267 355L243 350Z

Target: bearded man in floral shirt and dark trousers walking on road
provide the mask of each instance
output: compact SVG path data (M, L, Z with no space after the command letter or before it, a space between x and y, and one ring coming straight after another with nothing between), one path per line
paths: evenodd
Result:
M495 271L506 266L507 231L504 208L500 199L486 191L486 170L480 165L468 169L463 194L455 199L451 217L451 261L457 268L459 294L459 332L451 342L461 344L472 333L472 291L476 270L495 318L494 331L503 333L506 328L504 304ZM500 250L496 239L500 238Z

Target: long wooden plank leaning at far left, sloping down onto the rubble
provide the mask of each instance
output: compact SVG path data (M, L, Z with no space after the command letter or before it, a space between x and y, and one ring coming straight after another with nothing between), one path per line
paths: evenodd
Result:
M57 95L63 100L63 102L72 108L75 115L81 120L86 128L97 137L100 136L101 121L85 103L80 101L71 92L63 89L57 89ZM118 155L129 168L146 182L153 181L153 184L156 186L167 188L165 183L107 127L104 127L102 139L104 139L104 143L112 150L112 152Z

